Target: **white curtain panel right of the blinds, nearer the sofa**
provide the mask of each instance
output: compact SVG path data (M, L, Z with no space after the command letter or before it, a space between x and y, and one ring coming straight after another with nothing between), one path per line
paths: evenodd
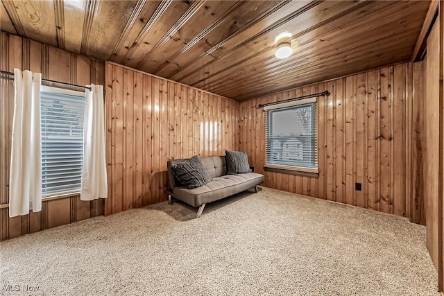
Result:
M92 84L91 90L86 89L85 92L83 172L80 200L95 200L107 196L103 85Z

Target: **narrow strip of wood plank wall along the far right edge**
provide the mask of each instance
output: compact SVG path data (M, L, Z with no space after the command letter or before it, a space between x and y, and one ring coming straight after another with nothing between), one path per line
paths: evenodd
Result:
M444 290L444 1L427 37L424 69L424 195L427 220L427 249L438 270L438 290Z

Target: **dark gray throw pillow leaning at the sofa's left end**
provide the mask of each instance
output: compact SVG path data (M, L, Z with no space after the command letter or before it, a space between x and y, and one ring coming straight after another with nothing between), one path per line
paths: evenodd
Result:
M187 189L203 186L213 180L212 176L205 171L197 155L171 165L171 171Z

